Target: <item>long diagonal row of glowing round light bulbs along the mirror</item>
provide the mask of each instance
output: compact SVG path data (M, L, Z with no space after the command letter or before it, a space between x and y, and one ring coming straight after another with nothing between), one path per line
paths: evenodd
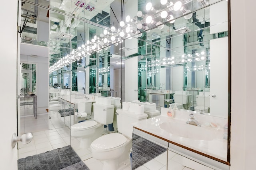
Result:
M197 0L198 2L200 2L203 6L208 5L208 2L206 0ZM192 13L190 10L187 10L183 5L181 1L177 1L175 2L175 4L173 2L169 2L168 0L160 0L160 3L162 5L166 5L167 8L173 8L173 10L176 11L180 11L182 12L184 16L184 18L186 20L190 19L192 17ZM160 11L156 10L153 6L151 2L148 2L146 4L146 11L147 12L154 12L154 13L159 13ZM190 13L190 14L188 14ZM187 14L187 15L186 15ZM142 21L138 22L138 20L134 17L131 18L130 16L126 16L126 23L124 21L120 21L120 27L123 28L124 26L126 26L126 28L124 29L116 29L114 26L112 26L110 28L110 31L104 29L103 33L100 34L100 36L94 36L91 41L86 41L85 44L81 45L81 47L78 47L76 50L73 50L69 55L66 55L65 57L63 57L62 59L60 59L60 61L54 63L53 66L50 66L50 73L63 67L66 64L72 63L75 60L81 58L81 57L85 57L87 55L90 55L91 53L97 52L99 53L99 51L101 51L102 49L107 50L108 46L110 45L118 45L118 43L122 43L123 39L128 38L128 39L132 39L132 35L136 35L137 37L141 37L142 31L146 31L149 32L150 29L148 26L144 26L142 24L142 22L145 20L146 24L152 24L154 26L159 25L158 29L162 29L164 27L164 25L162 24L161 21L154 21L153 17L150 15L145 15L143 14L141 11L137 12L137 17L139 18L143 18ZM170 23L174 23L174 15L172 12L167 12L166 10L162 10L160 13L160 17L162 19L165 19L167 21L169 21ZM133 25L130 25L133 24ZM134 30L133 28L136 26L136 30ZM116 32L119 32L116 33ZM132 34L132 35L131 35ZM182 62L185 62L185 60ZM164 62L165 64L174 64L173 62Z

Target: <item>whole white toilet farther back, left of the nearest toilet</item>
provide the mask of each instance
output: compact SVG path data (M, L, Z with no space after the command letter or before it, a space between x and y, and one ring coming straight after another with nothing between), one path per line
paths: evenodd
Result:
M71 136L80 138L80 148L88 148L92 141L102 136L104 125L113 123L114 106L92 104L94 120L83 121L71 126Z

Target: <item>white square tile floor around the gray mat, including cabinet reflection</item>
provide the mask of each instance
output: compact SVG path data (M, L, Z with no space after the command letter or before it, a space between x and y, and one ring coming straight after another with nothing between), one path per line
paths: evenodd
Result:
M72 146L76 153L80 156L81 160L90 168L90 170L100 170L103 163L99 160L92 158L90 148L80 149L80 141L74 137L70 137L70 129L64 126L64 123L56 119L54 115L51 116L48 128L48 114L38 115L38 118L24 117L22 118L22 130L24 132L32 132L33 139L30 143L23 145L19 144L18 158L40 154L48 150ZM147 162L137 170L191 170L182 166L182 156L168 151L168 162L166 162L167 151L157 156L155 159ZM124 170L130 170L130 165Z

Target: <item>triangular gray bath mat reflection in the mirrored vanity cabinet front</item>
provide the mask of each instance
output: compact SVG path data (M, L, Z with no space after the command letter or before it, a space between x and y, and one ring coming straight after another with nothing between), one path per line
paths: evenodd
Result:
M143 137L132 134L132 170L156 158L167 149Z

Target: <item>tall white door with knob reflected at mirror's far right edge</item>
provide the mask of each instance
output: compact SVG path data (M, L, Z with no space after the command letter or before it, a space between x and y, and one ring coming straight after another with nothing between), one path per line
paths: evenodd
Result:
M228 117L228 37L210 40L210 114Z

